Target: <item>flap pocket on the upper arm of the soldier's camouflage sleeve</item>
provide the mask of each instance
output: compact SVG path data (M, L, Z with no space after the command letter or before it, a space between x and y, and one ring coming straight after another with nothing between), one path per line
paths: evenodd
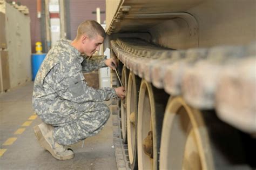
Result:
M83 80L84 76L80 73L69 80L69 90L73 97L81 96L84 93Z

